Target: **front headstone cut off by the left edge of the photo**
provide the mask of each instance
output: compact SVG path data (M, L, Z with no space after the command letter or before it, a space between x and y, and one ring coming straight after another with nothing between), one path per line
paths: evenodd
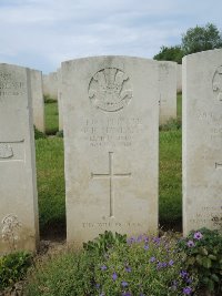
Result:
M38 204L30 71L0 64L0 254L34 251Z

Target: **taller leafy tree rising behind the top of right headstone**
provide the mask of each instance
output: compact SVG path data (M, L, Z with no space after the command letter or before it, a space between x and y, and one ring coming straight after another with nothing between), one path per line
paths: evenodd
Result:
M190 28L182 35L182 50L184 54L222 48L222 35L218 28L208 23L205 27Z

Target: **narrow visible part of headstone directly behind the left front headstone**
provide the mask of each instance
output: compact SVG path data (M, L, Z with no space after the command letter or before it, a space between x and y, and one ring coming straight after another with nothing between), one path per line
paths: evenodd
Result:
M39 131L44 133L44 100L41 71L31 70L31 94L34 125Z

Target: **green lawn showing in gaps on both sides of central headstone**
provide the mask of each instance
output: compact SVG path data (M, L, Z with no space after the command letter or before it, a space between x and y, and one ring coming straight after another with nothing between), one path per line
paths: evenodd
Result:
M179 94L179 120L182 110L181 99L182 95ZM58 131L57 102L46 103L46 110L48 133ZM169 129L160 132L159 204L160 224L164 228L181 226L182 222L182 132L173 126L169 125ZM36 141L36 147L41 233L61 228L61 225L64 229L63 140L57 136L40 139Z

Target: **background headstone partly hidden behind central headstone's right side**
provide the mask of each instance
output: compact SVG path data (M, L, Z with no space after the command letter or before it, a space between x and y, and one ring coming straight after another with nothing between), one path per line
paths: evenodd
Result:
M159 62L160 124L176 118L176 63Z

